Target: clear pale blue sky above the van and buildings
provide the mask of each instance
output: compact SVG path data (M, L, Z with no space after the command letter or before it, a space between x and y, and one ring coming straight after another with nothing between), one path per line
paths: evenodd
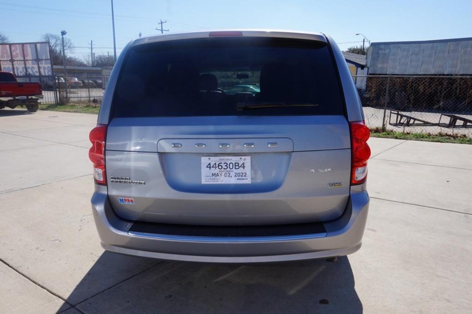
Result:
M187 32L218 28L321 31L342 49L371 41L472 37L471 0L114 0L117 51L131 39L165 29ZM83 58L93 40L96 54L113 53L110 0L0 0L0 33L12 42L38 41L65 29L74 56ZM346 42L346 43L345 43ZM84 47L84 48L81 48Z

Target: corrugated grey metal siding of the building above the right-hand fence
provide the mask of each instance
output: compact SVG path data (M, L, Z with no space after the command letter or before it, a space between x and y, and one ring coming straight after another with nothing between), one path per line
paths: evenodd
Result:
M472 38L372 42L369 74L472 74Z

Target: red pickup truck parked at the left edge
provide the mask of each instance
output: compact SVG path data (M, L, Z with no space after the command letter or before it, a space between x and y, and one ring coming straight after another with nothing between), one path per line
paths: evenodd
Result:
M15 75L0 72L0 109L26 106L29 112L38 111L42 87L38 82L17 82Z

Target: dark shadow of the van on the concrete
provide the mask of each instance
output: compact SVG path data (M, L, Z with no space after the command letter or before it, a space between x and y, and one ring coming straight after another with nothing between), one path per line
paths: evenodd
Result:
M110 272L101 268L114 267L114 260L121 258L104 252L67 301L81 299L83 285L106 280L101 277ZM127 260L130 267L143 263L139 257ZM76 308L84 313L362 313L346 256L337 262L247 265L163 261Z

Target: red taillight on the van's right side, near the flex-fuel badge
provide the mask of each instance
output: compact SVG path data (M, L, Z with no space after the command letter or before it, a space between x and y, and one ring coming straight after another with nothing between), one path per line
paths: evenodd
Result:
M367 160L371 157L371 148L367 140L371 131L363 121L350 122L351 128L351 184L360 184L367 178Z

